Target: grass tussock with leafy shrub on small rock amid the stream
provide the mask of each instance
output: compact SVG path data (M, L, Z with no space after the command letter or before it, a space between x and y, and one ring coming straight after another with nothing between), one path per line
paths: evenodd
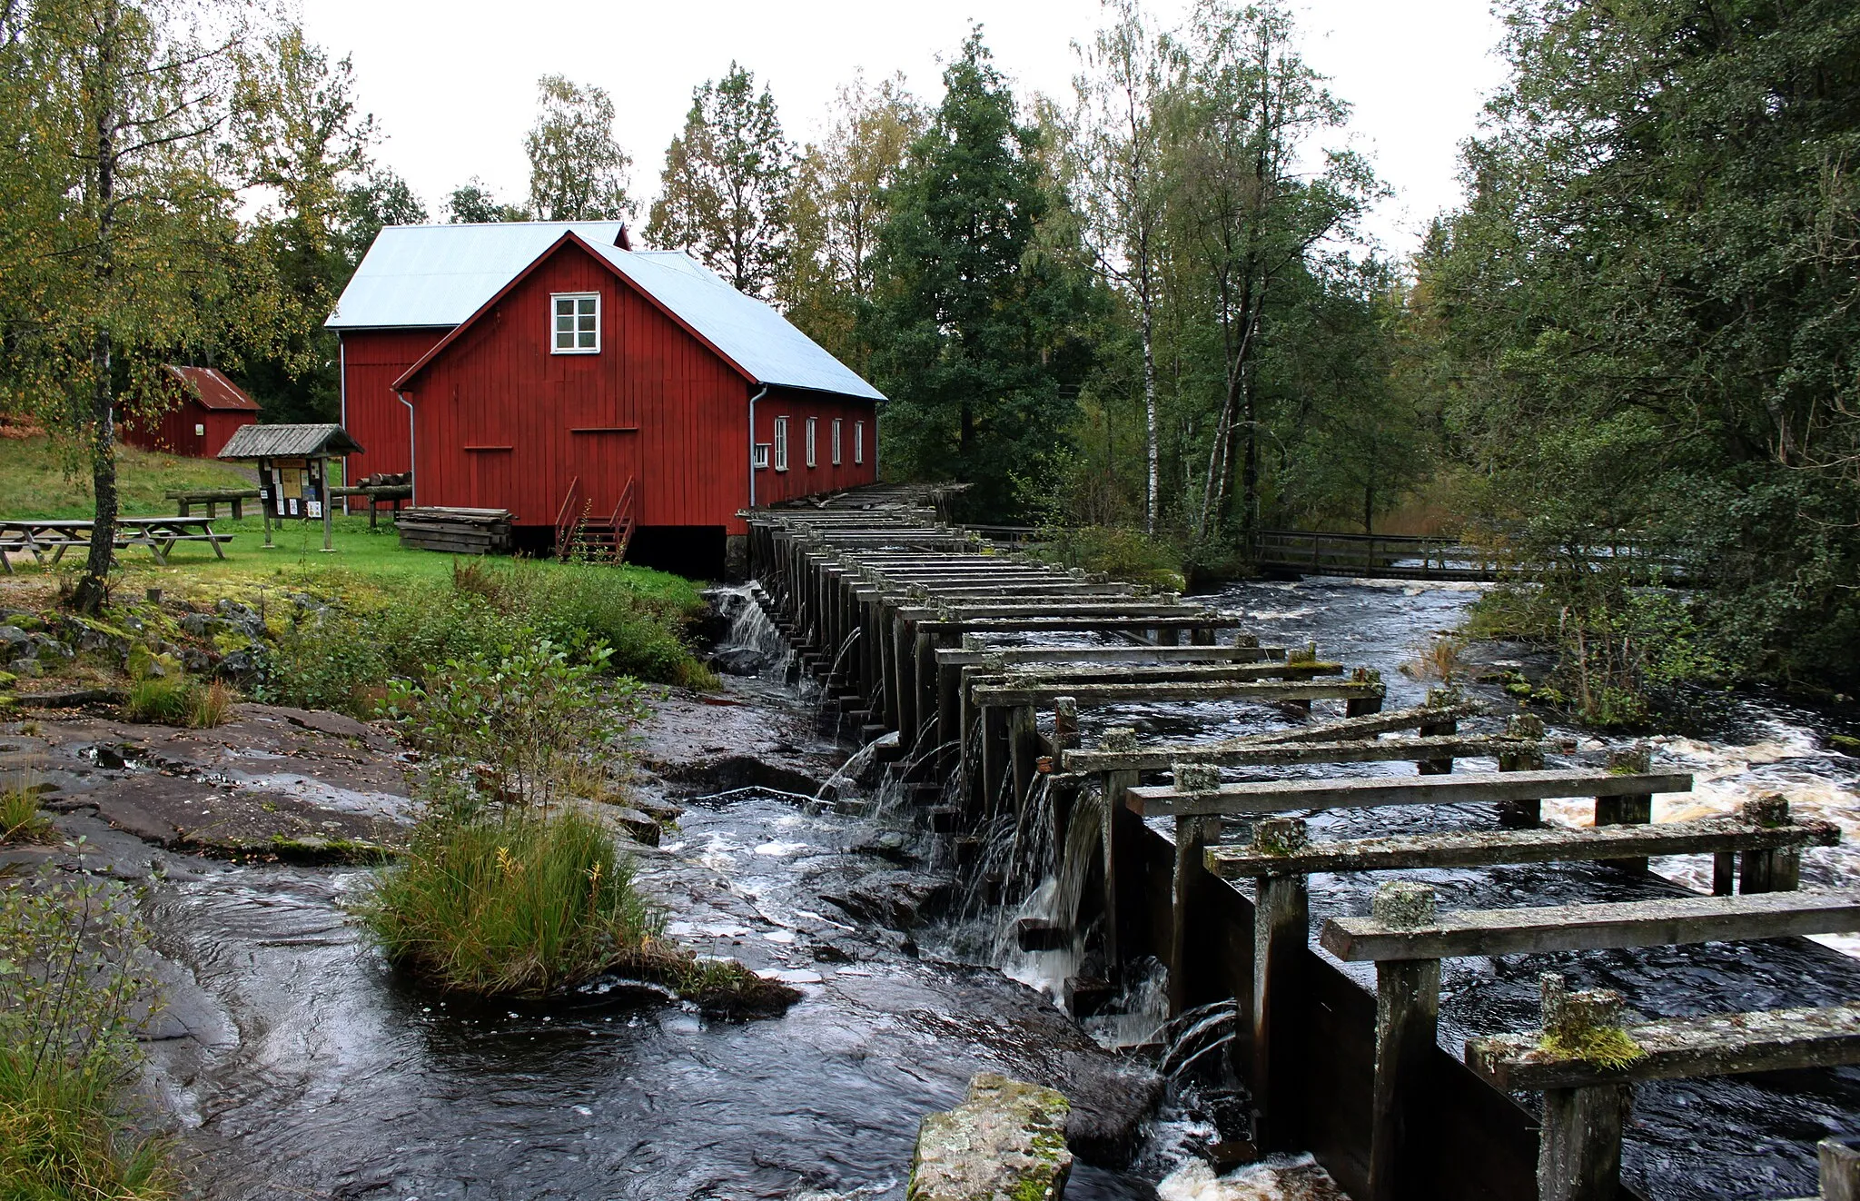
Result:
M619 734L645 714L608 660L601 643L571 653L519 628L392 692L387 710L430 757L426 812L361 920L389 959L450 991L549 996L625 976L714 1015L779 1013L794 989L662 937L603 818Z

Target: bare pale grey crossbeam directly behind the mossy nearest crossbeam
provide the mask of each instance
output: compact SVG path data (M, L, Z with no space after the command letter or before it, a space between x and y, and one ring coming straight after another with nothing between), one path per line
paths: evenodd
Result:
M1854 930L1860 930L1860 891L1840 889L1534 909L1462 909L1425 930L1397 930L1375 918L1330 918L1319 943L1345 961L1378 961L1678 946Z

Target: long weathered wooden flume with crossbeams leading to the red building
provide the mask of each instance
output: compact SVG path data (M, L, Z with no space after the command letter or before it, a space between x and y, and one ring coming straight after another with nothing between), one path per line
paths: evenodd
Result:
M746 517L759 600L865 742L897 731L891 770L960 870L984 870L980 835L1003 822L1090 848L1071 911L1021 918L1021 946L1090 928L1112 974L1166 967L1172 1011L1231 1004L1257 1149L1313 1153L1358 1201L1639 1197L1620 1179L1637 1082L1860 1063L1860 998L1644 1023L1618 993L1557 974L1540 980L1540 1028L1440 1047L1449 959L1860 930L1860 891L1797 887L1802 850L1840 833L1782 798L1654 824L1654 794L1693 779L1644 747L1546 770L1534 718L1462 731L1481 712L1449 690L1386 708L1373 671L1261 645L1242 615L1194 599L990 547L939 521L923 489ZM1081 710L1177 701L1276 706L1283 721L1220 740L1081 738ZM1456 766L1468 759L1497 770ZM1412 773L1389 772L1404 762ZM1542 824L1553 798L1592 798L1594 825ZM1468 803L1495 816L1371 838L1311 829L1326 811ZM1367 915L1319 915L1313 937L1311 876L1555 863L1644 876L1654 855L1711 855L1713 892L1447 909L1410 878L1380 885ZM1375 989L1337 961L1373 965ZM1073 983L1077 1004L1092 982ZM1849 1142L1817 1151L1821 1195L1860 1197Z

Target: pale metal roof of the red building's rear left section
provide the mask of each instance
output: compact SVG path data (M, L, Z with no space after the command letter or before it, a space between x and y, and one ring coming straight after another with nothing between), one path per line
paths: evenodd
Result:
M458 325L571 229L590 244L612 245L621 223L389 225L363 255L327 325Z

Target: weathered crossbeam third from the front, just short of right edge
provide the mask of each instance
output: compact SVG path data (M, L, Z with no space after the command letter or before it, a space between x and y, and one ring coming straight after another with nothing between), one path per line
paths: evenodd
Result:
M1285 855L1250 846L1215 846L1207 870L1224 879L1298 876L1311 872L1393 872L1402 868L1477 868L1505 863L1574 863L1644 859L1648 855L1711 855L1802 846L1834 846L1841 831L1832 822L1758 825L1737 818L1704 818L1665 825L1600 825L1590 829L1495 829L1445 835L1401 835L1313 842Z

